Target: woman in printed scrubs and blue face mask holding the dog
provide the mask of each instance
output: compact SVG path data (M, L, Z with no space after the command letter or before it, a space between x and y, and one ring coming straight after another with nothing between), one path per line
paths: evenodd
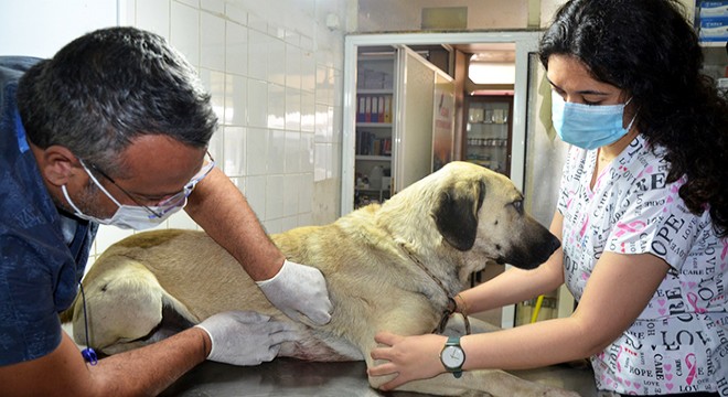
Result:
M563 249L456 301L473 313L566 283L575 312L450 341L456 364L438 358L445 336L383 332L370 375L396 374L390 389L590 357L600 390L728 396L728 105L692 25L675 1L572 0L539 56L571 144L550 226Z

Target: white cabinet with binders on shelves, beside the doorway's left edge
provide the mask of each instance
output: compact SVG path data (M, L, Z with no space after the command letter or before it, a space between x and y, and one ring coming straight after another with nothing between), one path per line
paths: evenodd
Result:
M454 107L452 78L407 46L361 46L355 73L353 189L342 183L342 214L384 202L441 165L435 126L452 126L454 118L441 110ZM450 129L450 147L451 136Z

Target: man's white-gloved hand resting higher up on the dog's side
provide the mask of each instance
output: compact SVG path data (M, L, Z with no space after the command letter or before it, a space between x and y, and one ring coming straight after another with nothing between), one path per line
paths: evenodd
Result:
M300 321L303 314L319 325L331 321L333 305L319 269L287 259L278 275L256 283L270 303L289 318Z

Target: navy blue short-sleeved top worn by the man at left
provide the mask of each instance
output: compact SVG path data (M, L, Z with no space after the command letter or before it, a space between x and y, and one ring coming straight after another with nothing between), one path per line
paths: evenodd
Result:
M64 238L18 112L31 57L0 56L0 365L42 357L61 343L58 313L73 302L98 225L73 219ZM67 222L66 222L67 223Z

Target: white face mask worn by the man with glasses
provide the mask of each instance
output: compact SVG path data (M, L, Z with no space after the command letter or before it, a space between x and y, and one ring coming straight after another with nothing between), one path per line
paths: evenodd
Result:
M149 207L150 210L154 211L158 214L163 214L161 217L158 217L157 215L150 214L149 211L144 207L137 205L124 205L118 201L116 201L116 198L114 198L114 196L111 196L111 194L109 194L109 192L107 192L106 189L104 189L104 186L100 183L98 183L96 178L86 169L86 165L84 165L83 163L82 165L84 167L84 170L86 171L88 176L90 176L92 181L94 181L94 184L96 184L96 186L98 186L98 189L100 189L101 192L104 192L104 194L106 194L106 196L109 197L109 200L111 200L114 204L118 206L116 213L114 213L114 216L111 216L110 218L101 219L95 216L86 215L71 200L71 196L68 195L68 191L66 190L66 185L64 184L63 186L61 186L61 190L63 191L63 195L66 197L68 204L71 204L71 206L73 207L74 215L82 219L96 222L101 225L113 225L125 229L146 230L167 221L172 214L182 210L184 205L188 203L185 198L180 206L176 206L171 210L159 208L154 206Z

